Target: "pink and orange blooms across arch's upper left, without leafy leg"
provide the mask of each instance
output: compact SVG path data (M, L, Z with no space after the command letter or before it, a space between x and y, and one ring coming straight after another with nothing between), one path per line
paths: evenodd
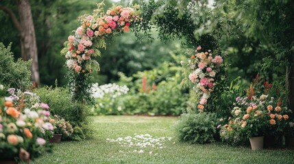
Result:
M95 42L105 40L114 32L129 31L130 26L141 19L137 9L123 8L121 5L110 8L106 14L100 12L80 17L81 26L75 30L75 36L68 38L69 51L65 55L67 66L75 72L90 73L92 70L83 61L90 60L91 55L95 55L97 48L100 48L93 46Z

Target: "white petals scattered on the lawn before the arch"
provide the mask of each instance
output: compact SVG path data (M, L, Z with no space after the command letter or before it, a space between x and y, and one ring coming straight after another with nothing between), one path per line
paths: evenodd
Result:
M145 134L145 135L137 135L135 134L134 137L127 136L127 137L119 137L117 139L106 139L108 142L116 142L121 145L121 147L125 148L134 148L133 152L138 154L143 154L145 151L144 148L155 148L155 149L162 149L164 148L165 141L171 141L172 137L153 137L152 135ZM122 152L122 151L121 151ZM152 154L152 152L148 152Z

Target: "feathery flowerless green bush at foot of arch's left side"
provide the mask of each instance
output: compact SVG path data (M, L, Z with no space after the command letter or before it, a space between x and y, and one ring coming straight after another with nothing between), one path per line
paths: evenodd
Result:
M42 87L35 89L34 92L40 96L42 102L49 105L52 115L60 115L64 120L71 122L74 132L70 139L81 140L89 137L89 108L72 102L69 90L62 87Z

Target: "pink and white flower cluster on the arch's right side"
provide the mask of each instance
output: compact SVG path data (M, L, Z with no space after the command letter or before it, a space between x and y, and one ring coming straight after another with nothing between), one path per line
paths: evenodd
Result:
M219 72L223 59L219 55L213 57L210 50L200 51L201 46L198 46L195 55L192 55L188 61L188 66L192 71L188 78L195 84L193 89L199 95L199 109L203 110L216 85L215 75Z

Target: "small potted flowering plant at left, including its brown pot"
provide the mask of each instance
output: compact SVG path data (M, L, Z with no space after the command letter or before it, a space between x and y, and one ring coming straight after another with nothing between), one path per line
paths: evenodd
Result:
M73 127L69 121L64 120L59 115L54 115L49 119L49 122L53 124L53 136L49 141L51 143L58 143L62 139L62 135L69 137L73 134Z

